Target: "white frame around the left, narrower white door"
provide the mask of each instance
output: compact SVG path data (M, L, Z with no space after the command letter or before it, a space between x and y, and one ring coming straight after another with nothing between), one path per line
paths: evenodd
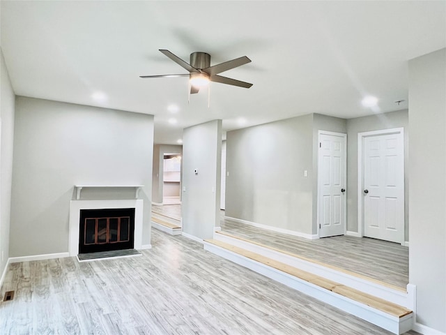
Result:
M317 145L317 149L318 149L318 191L317 191L317 206L316 206L316 210L317 210L317 214L316 214L316 228L317 228L317 238L320 238L320 230L321 228L321 160L319 159L321 156L321 150L319 150L319 143L321 143L321 135L333 135L333 136L339 136L339 137L344 137L344 140L346 142L344 151L344 160L342 162L342 165L344 166L344 182L345 182L345 188L346 188L346 192L345 192L345 201L344 201L344 217L342 218L342 220L344 221L344 235L347 233L347 134L346 133L336 133L334 131L318 131L318 145Z

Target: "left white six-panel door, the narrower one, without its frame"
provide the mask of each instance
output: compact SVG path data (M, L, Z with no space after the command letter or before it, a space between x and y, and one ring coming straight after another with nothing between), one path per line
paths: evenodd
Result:
M319 132L319 237L343 235L346 224L346 134Z

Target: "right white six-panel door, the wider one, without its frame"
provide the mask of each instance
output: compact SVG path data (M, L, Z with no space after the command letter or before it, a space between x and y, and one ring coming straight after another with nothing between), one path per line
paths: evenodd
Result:
M403 133L363 140L362 188L364 236L404 241Z

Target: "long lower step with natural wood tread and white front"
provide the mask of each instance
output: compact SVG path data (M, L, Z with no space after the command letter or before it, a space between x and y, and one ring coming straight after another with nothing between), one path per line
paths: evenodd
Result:
M394 334L402 334L412 329L413 312L406 307L224 241L208 239L204 241L204 246L208 251L325 301Z

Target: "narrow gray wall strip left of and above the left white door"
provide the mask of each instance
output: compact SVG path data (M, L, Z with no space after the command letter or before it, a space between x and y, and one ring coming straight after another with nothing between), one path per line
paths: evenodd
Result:
M332 131L334 133L347 133L346 119L339 117L328 117L322 114L313 114L313 234L317 234L318 217L318 151L319 135L318 131ZM347 138L348 147L348 138ZM348 156L347 156L348 159Z

